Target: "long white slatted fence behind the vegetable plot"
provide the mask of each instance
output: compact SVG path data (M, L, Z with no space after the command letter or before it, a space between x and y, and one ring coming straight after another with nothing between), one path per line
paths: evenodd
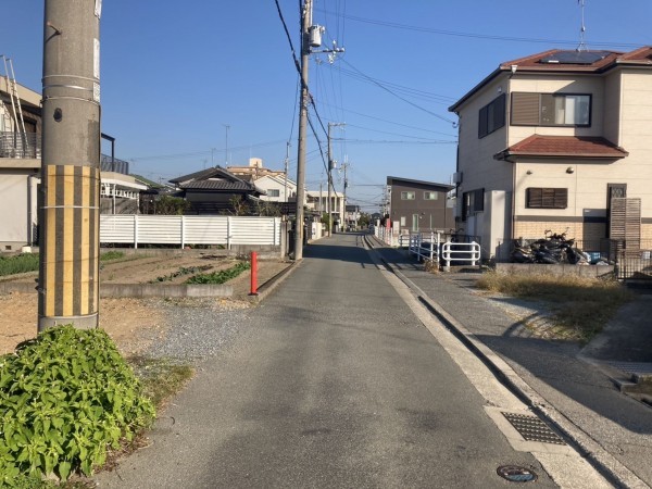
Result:
M222 215L100 215L100 242L139 244L279 246L279 217Z

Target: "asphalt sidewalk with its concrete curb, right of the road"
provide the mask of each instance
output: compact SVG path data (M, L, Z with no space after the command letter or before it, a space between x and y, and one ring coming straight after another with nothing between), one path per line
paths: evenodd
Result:
M624 308L582 350L528 335L496 299L474 293L476 273L430 274L405 251L377 240L374 247L507 387L614 484L652 487L652 408L614 384L630 371L652 372L652 296Z

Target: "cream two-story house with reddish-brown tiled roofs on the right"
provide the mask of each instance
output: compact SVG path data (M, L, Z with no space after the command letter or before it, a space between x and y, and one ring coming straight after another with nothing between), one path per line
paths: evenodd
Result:
M454 103L457 227L504 258L567 231L652 240L652 47L550 50L507 61Z

